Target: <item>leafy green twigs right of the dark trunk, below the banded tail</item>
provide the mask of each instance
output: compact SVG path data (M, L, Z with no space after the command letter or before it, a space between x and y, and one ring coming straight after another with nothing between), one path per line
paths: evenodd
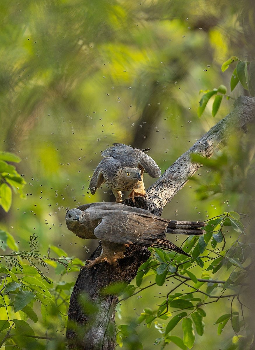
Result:
M231 226L231 229L239 235L229 249L224 250L227 226ZM217 245L220 243L222 246L218 247ZM141 294L147 288L155 285L163 286L165 282L172 281L173 283L175 280L178 282L176 286L173 286L167 294L157 296L164 298L164 301L157 305L158 308L156 310L144 308L137 319L137 324L145 322L147 327L150 327L154 323L156 328L160 325L157 320L168 320L167 324L161 324L158 328L162 337L156 339L156 343L161 343L162 348L164 348L170 341L176 341L175 343L182 349L191 348L195 340L193 325L198 335L204 333L203 318L206 317L206 313L202 307L226 298L231 300L230 312L220 316L215 321L215 324L218 324L218 334L221 334L222 329L231 320L232 328L236 336L239 337L241 325L245 324L244 305L240 301L240 295L247 286L245 281L248 278L249 265L245 266L244 263L248 256L247 250L250 249L245 241L245 227L241 222L240 215L236 212L225 212L209 219L206 233L200 237L188 237L183 243L183 249L189 252L193 259L182 255L178 256L174 252L166 253L161 249L154 249L154 256L139 268L136 286L127 286L121 293L123 297L120 302ZM203 255L204 252L207 254ZM214 254L215 257L210 257L211 254ZM192 268L196 268L195 273L191 272ZM201 278L197 277L198 268L202 269ZM211 274L217 273L220 269L224 269L225 275L228 276L226 280L217 280L211 277ZM153 276L155 282L151 280ZM150 283L140 287L148 277ZM217 293L219 288L221 291ZM233 292L227 293L227 289L231 289ZM198 296L199 294L203 297ZM207 299L211 299L211 301L207 301ZM241 314L235 310L238 305L233 309L234 300L238 301ZM187 313L186 310L189 310L190 313ZM170 311L171 314L177 313L177 315L170 317ZM242 322L240 317L242 317ZM184 333L183 339L170 335L172 329L180 322ZM125 332L125 327L119 327L118 339L120 342Z

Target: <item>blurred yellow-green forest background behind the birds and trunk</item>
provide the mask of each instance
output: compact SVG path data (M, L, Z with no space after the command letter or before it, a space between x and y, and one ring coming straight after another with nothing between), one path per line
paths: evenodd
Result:
M60 333L64 334L68 298L79 267L95 247L66 229L65 211L87 202L114 200L106 187L94 196L88 193L100 151L113 142L150 147L150 156L164 172L233 108L235 98L247 94L240 84L231 92L233 69L222 72L221 65L231 56L242 61L254 59L254 17L251 0L0 3L0 149L21 159L16 169L25 197L16 194L10 210L1 209L0 230L14 237L13 241L9 238L7 250L29 251L30 236L35 234L40 257L73 259L67 275L63 264L53 260L47 260L52 266L49 272L43 269L56 283L48 287L47 296L55 299L50 301L49 314L44 310L44 319L35 325L41 337L55 337L59 330L62 340L54 340L52 345L56 349L65 341ZM199 91L220 84L226 85L230 99L223 98L215 118L210 100L198 118ZM165 208L163 216L205 220L228 211L251 214L254 142L250 134L233 135L215 154L213 163L205 164ZM152 181L145 175L146 187ZM3 209L8 209L8 203L4 205ZM232 235L235 233L229 233ZM218 278L224 279L224 273ZM14 287L9 291L15 291ZM151 309L155 307L158 300L152 296L159 289L153 288L141 294L144 304L141 298L131 297L119 305L119 324L134 327L146 301ZM162 286L160 292L166 290ZM29 307L32 303L30 300ZM61 316L55 304L61 304ZM224 310L222 304L218 309L217 303L213 305L205 333L195 346L223 348L224 344L228 349L235 333L227 324L217 335L215 314L220 316ZM226 303L225 307L227 314L230 306ZM17 317L15 310L13 318ZM24 315L19 317L26 320ZM31 327L33 322L28 322ZM7 329L5 324L0 326ZM15 327L22 328L19 320ZM123 346L131 349L139 339L144 349L151 348L160 336L160 327L152 325L148 333L147 327L140 325L132 335L133 343ZM27 332L32 335L30 329ZM181 333L180 328L176 335ZM166 348L179 349L174 340ZM28 343L23 342L20 346L26 348ZM47 345L42 339L33 342L34 349L51 349L51 340ZM10 349L15 344L7 345Z

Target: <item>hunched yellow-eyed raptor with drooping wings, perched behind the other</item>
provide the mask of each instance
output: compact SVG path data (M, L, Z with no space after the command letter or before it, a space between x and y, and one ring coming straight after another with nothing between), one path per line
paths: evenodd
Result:
M134 202L134 196L145 196L143 173L151 177L159 177L161 170L157 163L140 149L124 144L113 144L102 152L103 159L95 169L91 181L92 195L105 182L113 191L116 202L121 203L121 191L132 192L129 195Z

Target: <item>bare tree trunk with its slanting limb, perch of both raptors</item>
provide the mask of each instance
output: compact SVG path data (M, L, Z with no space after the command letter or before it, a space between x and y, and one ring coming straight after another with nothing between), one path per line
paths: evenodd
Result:
M240 97L235 108L224 119L212 127L187 152L180 156L162 176L147 190L147 199L136 198L136 206L160 215L165 204L185 185L201 166L190 159L192 153L209 158L222 148L229 135L247 132L248 125L255 120L255 98ZM133 203L125 201L127 205ZM100 254L100 246L92 254ZM130 246L119 266L106 262L91 269L83 269L78 275L68 311L66 337L70 349L111 350L116 345L115 306L118 296L104 293L112 283L127 285L136 275L139 266L150 256L147 248Z

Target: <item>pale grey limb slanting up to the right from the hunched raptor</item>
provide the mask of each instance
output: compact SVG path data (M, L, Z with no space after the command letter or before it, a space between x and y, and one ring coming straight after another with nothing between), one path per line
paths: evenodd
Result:
M154 214L161 215L164 206L200 168L200 163L191 161L192 153L210 158L215 151L227 144L230 135L237 131L247 133L248 124L255 121L255 98L240 96L234 106L233 111L183 153L146 191L147 197L154 204Z

